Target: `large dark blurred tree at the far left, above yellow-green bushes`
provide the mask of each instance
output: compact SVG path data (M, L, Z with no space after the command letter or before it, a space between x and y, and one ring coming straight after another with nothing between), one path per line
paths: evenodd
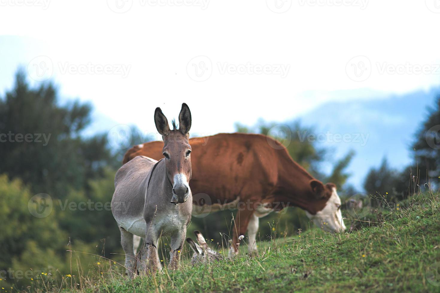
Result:
M79 101L59 105L51 83L29 87L19 69L14 89L0 98L0 173L57 198L102 177L112 156L103 136L81 137L90 112Z

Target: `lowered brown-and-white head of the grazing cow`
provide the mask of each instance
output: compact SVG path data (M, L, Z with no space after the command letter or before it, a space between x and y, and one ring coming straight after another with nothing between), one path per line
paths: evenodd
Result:
M306 210L307 217L327 232L341 232L345 230L341 213L341 199L333 183L323 184L318 180L310 181L315 204Z

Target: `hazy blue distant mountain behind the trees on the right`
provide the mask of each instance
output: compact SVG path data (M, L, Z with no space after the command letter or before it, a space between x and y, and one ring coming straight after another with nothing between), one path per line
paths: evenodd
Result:
M371 166L378 166L386 156L394 168L412 162L411 144L414 134L425 120L427 106L434 106L440 90L417 91L374 99L353 99L329 102L297 117L315 133L327 134L322 142L334 148L334 158L341 158L350 149L356 151L348 170L349 183L362 191L363 181ZM335 134L346 135L337 142ZM322 141L322 140L321 140ZM339 140L341 141L341 140ZM321 143L321 142L319 142ZM326 166L330 169L329 166Z

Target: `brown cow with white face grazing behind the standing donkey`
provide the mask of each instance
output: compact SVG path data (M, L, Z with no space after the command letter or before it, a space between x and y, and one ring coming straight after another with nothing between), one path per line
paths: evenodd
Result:
M257 250L258 218L286 206L299 206L315 224L329 232L345 230L336 186L313 178L279 142L261 134L216 134L190 139L193 213L234 206L231 253L238 252L238 235L248 232L249 251ZM123 163L136 156L161 159L163 143L147 142L129 149ZM199 206L197 205L199 204Z

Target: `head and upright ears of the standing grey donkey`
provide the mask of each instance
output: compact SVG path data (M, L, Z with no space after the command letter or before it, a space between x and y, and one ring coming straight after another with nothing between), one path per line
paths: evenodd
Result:
M187 104L182 104L179 114L179 129L172 121L173 129L160 108L154 112L154 123L162 135L165 157L166 174L172 184L172 203L184 203L191 193L189 181L191 179L191 145L189 131L191 128L191 112Z

